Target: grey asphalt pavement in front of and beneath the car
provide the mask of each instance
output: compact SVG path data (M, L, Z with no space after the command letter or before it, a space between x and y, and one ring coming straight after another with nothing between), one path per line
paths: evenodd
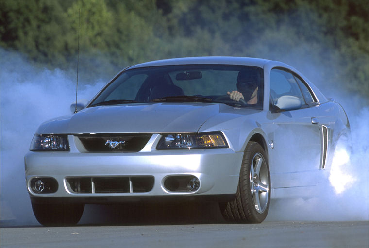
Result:
M7 247L369 247L369 222L1 228Z

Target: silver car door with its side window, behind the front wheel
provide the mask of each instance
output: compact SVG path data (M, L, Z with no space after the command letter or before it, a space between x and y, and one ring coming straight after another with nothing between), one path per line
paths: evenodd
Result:
M292 98L301 104L280 110L279 101ZM319 104L302 79L290 71L270 72L268 136L273 188L315 186L321 174L322 126Z

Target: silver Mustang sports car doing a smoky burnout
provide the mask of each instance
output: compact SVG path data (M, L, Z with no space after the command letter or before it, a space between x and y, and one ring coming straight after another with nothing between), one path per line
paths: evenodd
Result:
M25 156L43 225L76 224L84 204L152 199L214 200L225 219L260 223L271 199L319 193L350 136L338 103L256 58L131 66L71 109L41 124Z

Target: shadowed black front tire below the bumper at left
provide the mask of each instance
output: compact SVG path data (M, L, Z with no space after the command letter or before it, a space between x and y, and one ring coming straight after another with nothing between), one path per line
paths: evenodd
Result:
M74 226L80 221L84 204L32 203L37 221L43 226Z

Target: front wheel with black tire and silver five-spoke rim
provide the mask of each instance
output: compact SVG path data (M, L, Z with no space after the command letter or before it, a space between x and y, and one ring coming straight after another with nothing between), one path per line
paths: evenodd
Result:
M242 160L236 197L219 203L220 210L230 222L261 223L268 215L269 205L268 157L258 143L249 142Z

